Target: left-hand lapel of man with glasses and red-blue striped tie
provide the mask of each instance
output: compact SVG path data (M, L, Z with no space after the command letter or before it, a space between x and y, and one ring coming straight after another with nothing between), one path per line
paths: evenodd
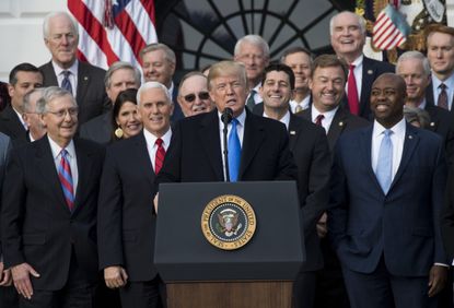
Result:
M49 141L47 135L35 141L36 142L36 165L42 173L43 179L48 181L49 187L51 187L51 194L56 198L56 201L59 205L58 209L63 210L66 213L70 214L69 208L61 189L61 183L58 178L57 168L55 166L53 151L50 149Z

